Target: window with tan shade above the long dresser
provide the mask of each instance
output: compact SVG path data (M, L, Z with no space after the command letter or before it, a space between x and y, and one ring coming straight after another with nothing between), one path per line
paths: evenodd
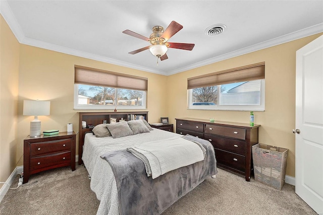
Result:
M189 78L188 109L264 111L264 63Z

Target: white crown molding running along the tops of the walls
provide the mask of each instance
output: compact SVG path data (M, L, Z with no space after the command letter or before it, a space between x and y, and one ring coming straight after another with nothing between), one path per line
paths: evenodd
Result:
M295 32L292 32L292 33L289 33L289 34L286 34L286 35L283 35L283 36L280 36L280 37L277 37L274 39L270 39L270 40L267 40L264 42L257 43L255 45L251 45L251 46L247 46L247 47L235 50L235 51L231 51L231 52L225 53L223 55L207 59L205 61L201 61L201 62L191 64L191 65L188 65L188 66L185 66L182 68L178 68L175 70L165 72L165 71L154 70L151 68L142 67L142 66L135 65L135 64L130 64L130 63L127 63L124 61L119 61L116 59L111 59L111 58L95 55L93 53L88 53L85 51L80 51L77 49L68 48L65 46L52 44L52 43L48 43L48 42L44 42L44 41L40 41L40 40L26 37L21 29L21 26L19 25L15 16L13 15L13 13L8 5L8 2L7 1L0 1L0 2L1 2L0 3L0 12L1 12L2 16L4 17L4 19L6 20L6 22L8 23L10 29L12 30L12 32L16 36L19 43L31 45L31 46L35 46L35 47L39 47L39 48L45 48L48 50L58 51L58 52L66 53L68 55L78 56L78 57L87 58L87 59L100 61L100 62L104 62L104 63L128 67L131 69L141 70L141 71L160 74L160 75L166 75L166 76L174 75L176 73L180 73L180 72L195 69L198 67L206 66L206 65L213 64L213 63L216 63L219 61L223 61L223 60L227 60L227 59L234 58L237 56L245 55L246 53L250 53L253 51L261 50L264 48L272 47L272 46L279 45L279 44L282 44L285 42L293 41L296 39L300 39L302 37L306 37L306 36L310 36L310 35L313 35L316 33L323 32L323 23L319 23L317 25L314 25L314 26L311 26L311 27L308 27L308 28L305 28L305 29L302 29L299 31L295 31Z

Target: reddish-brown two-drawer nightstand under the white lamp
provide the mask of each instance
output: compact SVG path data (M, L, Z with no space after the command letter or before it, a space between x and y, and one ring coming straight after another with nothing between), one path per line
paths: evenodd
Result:
M60 132L24 139L24 180L32 174L58 167L71 166L75 170L75 133Z

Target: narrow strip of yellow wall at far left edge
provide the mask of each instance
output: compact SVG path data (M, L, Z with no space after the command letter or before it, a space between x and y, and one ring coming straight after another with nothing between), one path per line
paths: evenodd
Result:
M20 159L17 148L19 42L0 15L0 181L6 182ZM0 184L0 188L3 184Z

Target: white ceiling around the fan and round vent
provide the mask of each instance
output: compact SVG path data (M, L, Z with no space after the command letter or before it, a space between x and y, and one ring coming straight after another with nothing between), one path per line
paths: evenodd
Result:
M23 44L171 75L323 32L323 1L3 1L1 14ZM156 64L149 45L122 33L149 37L155 25L176 21L183 29L170 42L195 43L192 51L170 48ZM207 36L214 24L222 34Z

